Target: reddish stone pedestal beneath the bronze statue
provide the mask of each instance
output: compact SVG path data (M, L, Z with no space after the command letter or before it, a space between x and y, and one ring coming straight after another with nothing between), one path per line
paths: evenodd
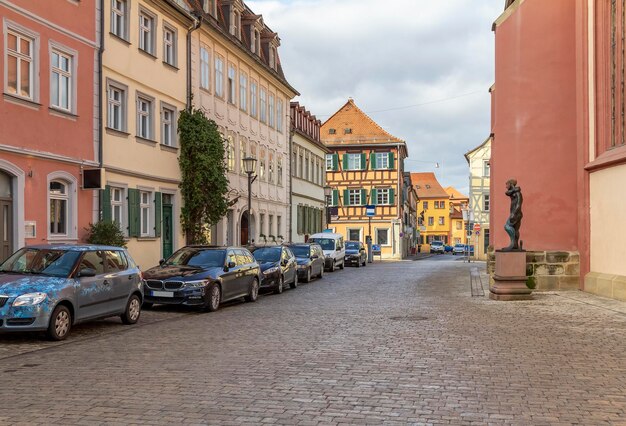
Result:
M526 286L526 252L497 250L493 281L490 299L531 300L532 289Z

